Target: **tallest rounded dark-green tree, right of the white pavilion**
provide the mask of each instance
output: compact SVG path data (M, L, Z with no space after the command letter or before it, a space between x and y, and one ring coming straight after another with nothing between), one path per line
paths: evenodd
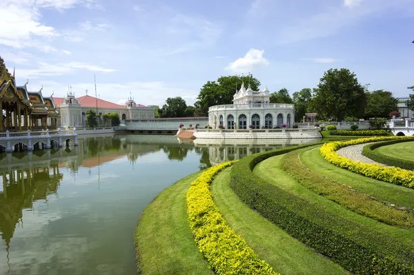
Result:
M346 68L329 69L314 89L312 103L319 116L342 121L345 116L361 117L366 104L366 88Z

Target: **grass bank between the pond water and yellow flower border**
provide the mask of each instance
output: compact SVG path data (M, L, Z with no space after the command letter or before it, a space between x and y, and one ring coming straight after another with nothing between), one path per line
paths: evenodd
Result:
M195 245L186 212L186 192L199 174L177 181L142 212L134 234L139 273L214 274Z

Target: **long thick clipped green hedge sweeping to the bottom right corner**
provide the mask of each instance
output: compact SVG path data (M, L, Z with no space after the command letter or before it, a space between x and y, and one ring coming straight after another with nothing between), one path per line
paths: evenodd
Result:
M414 249L393 236L325 212L253 174L257 163L309 145L246 156L233 165L230 187L264 218L355 274L414 274Z

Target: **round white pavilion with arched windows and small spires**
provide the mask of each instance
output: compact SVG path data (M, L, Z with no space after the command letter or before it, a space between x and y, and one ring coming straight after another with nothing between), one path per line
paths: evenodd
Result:
M270 103L270 92L266 87L262 91L253 91L244 83L233 96L233 104L215 105L208 108L208 123L213 128L226 129L273 129L292 128L295 122L295 105ZM250 126L251 125L251 126Z

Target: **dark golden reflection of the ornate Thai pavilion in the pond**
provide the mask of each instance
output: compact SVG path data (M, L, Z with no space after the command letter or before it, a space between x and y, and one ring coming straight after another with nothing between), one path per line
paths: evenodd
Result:
M16 224L22 218L23 209L32 208L33 201L46 199L56 193L63 174L56 164L49 167L3 172L3 192L0 193L1 238L10 247Z

